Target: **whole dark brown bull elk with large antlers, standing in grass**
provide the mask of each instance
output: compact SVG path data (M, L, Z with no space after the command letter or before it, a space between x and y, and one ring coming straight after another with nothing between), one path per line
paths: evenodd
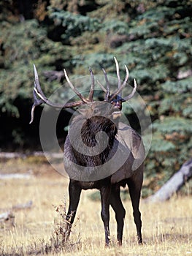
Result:
M69 133L64 143L64 167L69 174L69 209L66 216L67 236L74 222L82 189L99 189L101 195L101 219L104 223L105 244L110 244L110 211L112 206L117 221L117 240L122 244L123 225L126 211L120 199L120 187L128 186L133 207L134 222L137 227L138 243L142 244L142 221L139 211L139 200L143 181L143 160L145 149L142 138L128 124L120 120L122 103L134 96L137 83L127 97L121 92L128 80L128 69L123 83L120 80L118 61L115 59L118 89L111 94L107 72L103 69L106 88L101 83L105 97L103 101L94 101L94 76L91 73L91 89L85 98L74 87L64 69L64 74L71 89L80 100L55 104L51 102L39 84L37 70L34 67L34 105L31 109L31 122L34 119L34 108L45 103L54 108L79 107L74 116ZM84 148L84 149L82 149Z

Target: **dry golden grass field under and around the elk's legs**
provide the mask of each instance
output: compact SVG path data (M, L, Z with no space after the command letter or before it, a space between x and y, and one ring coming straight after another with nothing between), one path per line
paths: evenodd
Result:
M141 201L144 244L137 245L131 202L123 202L126 220L123 246L116 245L116 223L112 210L112 244L104 248L104 228L99 201L93 191L83 191L69 244L53 246L59 213L55 206L68 205L68 180L44 159L12 159L0 162L0 173L31 173L28 179L0 179L0 214L12 209L15 225L0 222L0 255L191 255L192 199L174 196L166 203ZM31 208L12 208L32 200Z

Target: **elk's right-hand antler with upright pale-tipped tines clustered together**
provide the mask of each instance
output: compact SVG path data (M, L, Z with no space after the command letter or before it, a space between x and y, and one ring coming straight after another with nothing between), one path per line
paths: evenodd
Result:
M105 78L105 82L106 82L106 85L107 85L107 90L104 88L104 86L98 81L99 85L101 86L101 89L106 93L105 95L105 100L106 101L109 101L111 102L112 99L114 99L116 96L120 96L121 97L121 91L123 90L123 88L126 86L126 83L127 83L127 80L128 80L128 68L126 67L125 65L125 68L126 68L126 78L125 80L123 81L123 83L121 83L121 80L120 80L120 71L119 71L119 64L118 64L118 61L117 59L114 57L115 59L115 64L116 64L116 70L117 70L117 77L118 77L118 90L115 91L115 93L113 93L110 97L110 83L109 83L109 80L107 78L107 72L103 69L103 72L104 72L104 78ZM127 101L128 99L131 99L135 92L137 90L137 83L136 83L136 80L134 79L134 89L133 91L131 91L131 94L129 94L128 96L126 97L123 97L123 101Z

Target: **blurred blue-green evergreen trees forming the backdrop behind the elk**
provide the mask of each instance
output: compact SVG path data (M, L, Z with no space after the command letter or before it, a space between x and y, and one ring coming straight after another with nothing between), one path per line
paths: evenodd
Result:
M1 0L0 10L1 151L41 148L42 108L28 124L34 63L49 95L64 83L64 67L70 78L88 75L88 67L95 74L104 67L114 76L116 56L122 78L126 64L129 80L137 79L153 122L146 193L191 158L191 0ZM134 126L134 113L124 111ZM68 121L64 116L65 111L58 121L61 141Z

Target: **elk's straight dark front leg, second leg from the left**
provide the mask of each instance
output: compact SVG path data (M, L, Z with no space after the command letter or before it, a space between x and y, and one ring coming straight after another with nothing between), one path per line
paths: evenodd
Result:
M104 222L105 246L110 245L110 192L111 187L102 187L101 192L101 218Z

